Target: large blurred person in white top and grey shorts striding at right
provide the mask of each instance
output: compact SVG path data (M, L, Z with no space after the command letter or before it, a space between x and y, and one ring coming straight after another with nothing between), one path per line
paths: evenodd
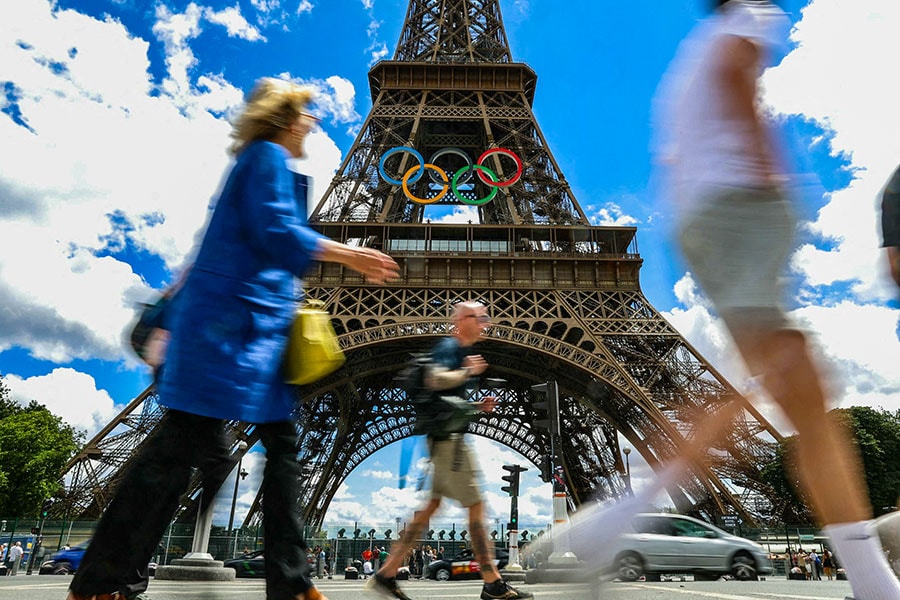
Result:
M806 337L781 307L797 225L758 80L790 27L767 1L717 0L682 43L658 96L658 161L678 244L754 375L798 432L797 468L857 600L897 600L851 438L828 414Z

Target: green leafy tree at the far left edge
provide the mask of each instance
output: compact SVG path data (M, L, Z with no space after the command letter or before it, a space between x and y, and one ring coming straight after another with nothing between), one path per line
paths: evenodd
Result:
M44 499L62 491L60 473L83 442L45 406L13 402L0 376L0 515L36 516Z

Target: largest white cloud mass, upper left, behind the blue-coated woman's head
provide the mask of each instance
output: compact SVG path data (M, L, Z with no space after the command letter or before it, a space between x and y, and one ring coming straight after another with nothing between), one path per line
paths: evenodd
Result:
M150 290L108 254L129 245L170 268L182 263L228 166L224 115L243 99L221 75L192 74L201 69L188 42L202 14L195 4L182 14L159 7L154 32L169 73L159 90L151 43L121 23L46 0L0 5L9 24L0 64L14 86L5 102L17 115L0 114L0 351L137 364L123 336ZM352 86L330 81L326 103L352 118ZM308 146L301 168L317 197L341 153L322 131Z

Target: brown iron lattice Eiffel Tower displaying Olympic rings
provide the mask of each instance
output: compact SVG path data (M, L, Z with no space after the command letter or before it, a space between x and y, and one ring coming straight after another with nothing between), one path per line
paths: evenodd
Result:
M306 522L320 526L353 469L412 434L394 378L449 332L461 300L488 307L478 350L487 374L506 381L492 390L498 408L471 433L537 466L550 439L535 426L529 390L557 381L572 508L627 493L620 439L657 469L699 416L736 399L743 410L727 436L669 494L679 511L707 519L736 513L753 524L789 510L772 505L760 477L779 433L644 297L636 229L592 226L575 199L532 112L537 76L513 61L499 0L410 0L396 53L372 67L369 83L372 110L310 223L387 252L402 277L374 286L320 264L305 280L348 359L300 390ZM446 218L453 212L462 222ZM102 511L160 414L148 389L72 460L70 515ZM252 425L231 428L236 460L237 441L257 438Z

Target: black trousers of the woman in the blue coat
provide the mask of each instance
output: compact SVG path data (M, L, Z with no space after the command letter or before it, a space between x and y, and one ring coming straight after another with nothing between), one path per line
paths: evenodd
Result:
M224 422L169 410L138 450L115 497L97 524L91 544L72 580L83 596L147 589L147 563L187 490L197 467L212 497L234 466ZM300 465L297 429L290 421L256 426L266 449L263 473L266 598L293 600L312 587L307 545L297 498ZM227 469L227 470L226 470Z

